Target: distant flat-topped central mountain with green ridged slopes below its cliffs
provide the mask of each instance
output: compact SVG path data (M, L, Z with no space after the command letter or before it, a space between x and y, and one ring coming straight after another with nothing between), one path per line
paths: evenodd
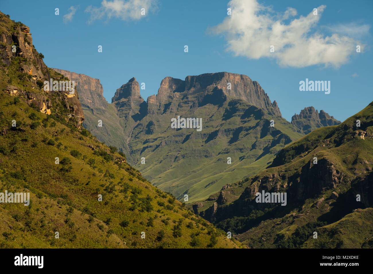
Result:
M79 83L78 91L93 86ZM91 93L102 94L101 89ZM96 104L92 98L97 97L91 94L82 100L84 126L123 151L151 183L180 200L187 194L188 202L203 200L227 182L260 171L280 148L303 135L282 118L276 101L271 103L260 85L245 75L206 73L184 81L166 77L157 95L147 101L132 78L106 107L101 101ZM171 119L178 116L201 119L201 130L172 128Z

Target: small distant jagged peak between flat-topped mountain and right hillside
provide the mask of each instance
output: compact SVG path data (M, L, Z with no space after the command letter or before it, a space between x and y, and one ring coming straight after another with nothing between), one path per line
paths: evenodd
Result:
M300 114L294 114L291 117L291 123L298 127L300 132L308 134L319 127L339 125L341 121L334 119L333 116L329 116L323 110L320 110L320 113L318 113L314 107L305 107L301 110Z

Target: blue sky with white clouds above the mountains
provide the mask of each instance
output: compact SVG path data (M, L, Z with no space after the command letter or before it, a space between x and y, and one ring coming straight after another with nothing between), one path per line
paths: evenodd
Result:
M258 81L289 121L311 105L343 121L373 100L373 1L3 1L0 10L30 27L47 66L100 79L109 103L133 76L146 100L166 76L222 71ZM330 94L300 91L306 78L330 81Z

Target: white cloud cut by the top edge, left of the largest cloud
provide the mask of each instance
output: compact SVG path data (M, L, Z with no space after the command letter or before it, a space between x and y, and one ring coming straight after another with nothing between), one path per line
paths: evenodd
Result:
M119 18L124 21L138 20L144 17L141 15L141 9L145 9L145 16L150 11L157 8L157 0L103 0L101 7L88 6L85 12L91 13L91 18L88 23L92 23L96 19L112 17Z

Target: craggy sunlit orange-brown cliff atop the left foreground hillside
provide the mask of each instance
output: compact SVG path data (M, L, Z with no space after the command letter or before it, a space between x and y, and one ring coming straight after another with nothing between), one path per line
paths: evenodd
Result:
M41 112L76 123L79 127L84 121L84 114L78 92L44 91L44 81L69 79L61 77L44 64L44 56L32 45L29 27L10 20L1 12L0 27L0 59L4 67L1 88L22 98L29 105L34 105Z

